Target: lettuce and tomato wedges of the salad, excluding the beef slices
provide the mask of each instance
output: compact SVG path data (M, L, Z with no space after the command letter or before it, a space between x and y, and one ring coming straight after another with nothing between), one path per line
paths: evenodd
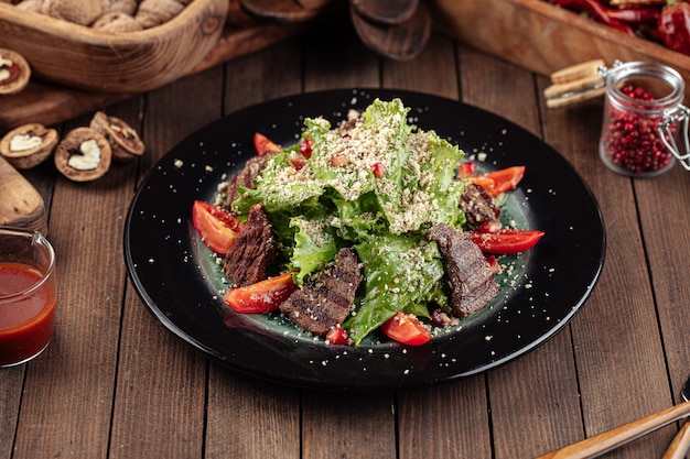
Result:
M337 127L322 117L308 118L300 140L284 149L257 133L262 164L251 184L239 185L231 201L194 203L200 237L227 256L242 239L252 209L260 207L270 221L277 262L267 278L225 293L233 309L279 312L347 249L356 254L362 282L347 317L326 334L327 342L357 346L380 330L422 345L431 339L432 321L457 321L448 260L429 238L432 228L466 233L494 272L500 269L495 255L537 243L541 231L502 228L498 219L478 222L460 205L474 186L498 207L525 168L477 174L476 163L464 161L459 146L416 128L408 113L399 99L376 99Z

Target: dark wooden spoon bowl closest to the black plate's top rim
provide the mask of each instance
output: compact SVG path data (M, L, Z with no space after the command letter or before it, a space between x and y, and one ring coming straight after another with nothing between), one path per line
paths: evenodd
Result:
M349 11L353 25L362 42L370 50L391 59L414 58L431 36L431 13L424 3L419 3L409 20L395 25L367 21L355 7L351 7Z

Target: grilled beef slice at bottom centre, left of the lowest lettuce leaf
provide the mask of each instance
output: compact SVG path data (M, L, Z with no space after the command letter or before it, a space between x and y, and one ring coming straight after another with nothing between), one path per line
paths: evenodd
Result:
M347 318L360 282L357 254L353 249L341 249L319 276L280 305L280 310L304 330L325 336Z

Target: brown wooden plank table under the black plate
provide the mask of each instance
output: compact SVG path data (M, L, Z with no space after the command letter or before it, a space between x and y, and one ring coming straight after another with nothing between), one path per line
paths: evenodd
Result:
M439 35L416 61L382 61L343 24L108 107L142 132L149 151L140 162L91 184L68 182L50 164L24 174L50 209L60 310L48 349L0 371L0 458L531 458L678 402L690 373L689 173L678 165L653 179L612 173L597 155L601 100L547 109L547 85ZM147 312L122 256L125 216L147 171L234 110L344 87L482 107L573 164L601 206L607 255L589 303L561 332L453 383L322 393L209 362ZM677 428L606 457L661 457Z

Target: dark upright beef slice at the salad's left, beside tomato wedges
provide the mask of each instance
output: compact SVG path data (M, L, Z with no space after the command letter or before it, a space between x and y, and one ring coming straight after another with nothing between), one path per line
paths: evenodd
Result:
M223 272L235 286L255 284L268 278L268 269L277 255L271 222L263 206L257 204L251 207L245 227L225 254Z

